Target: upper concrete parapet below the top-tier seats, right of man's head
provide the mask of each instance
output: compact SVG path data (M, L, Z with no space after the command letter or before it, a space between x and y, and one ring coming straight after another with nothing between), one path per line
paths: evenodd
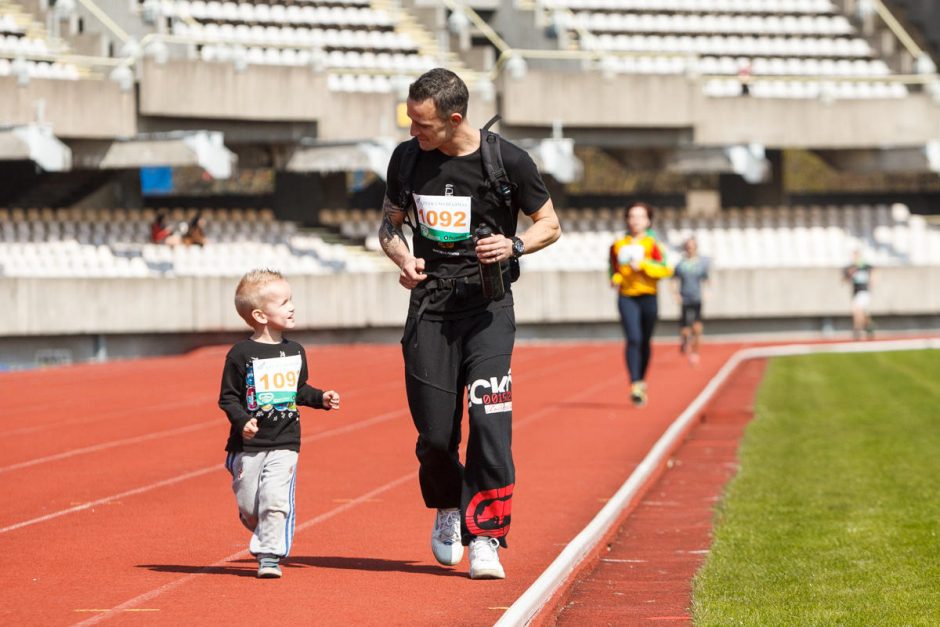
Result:
M564 90L559 90L559 85ZM940 103L923 94L890 100L709 98L686 76L530 70L500 81L503 119L518 126L691 128L695 143L768 147L922 145L938 138ZM590 97L565 97L590 94Z

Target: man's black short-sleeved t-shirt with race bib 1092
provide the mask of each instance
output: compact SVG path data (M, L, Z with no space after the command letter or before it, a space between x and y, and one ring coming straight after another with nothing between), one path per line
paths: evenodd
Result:
M401 194L399 166L407 144L395 149L388 166L385 193L396 205ZM472 234L477 226L485 223L495 233L511 237L516 233L519 210L531 215L549 200L529 154L501 137L499 149L503 167L514 184L511 213L491 190L479 149L459 157L439 150L419 150L411 186L419 222L414 232L414 255L425 260L425 272L432 279L475 277L478 261ZM417 311L422 302L429 318L456 318L511 306L512 293L507 290L506 298L490 303L478 285L466 290L432 290L429 295L428 286L421 284L412 290L410 313Z

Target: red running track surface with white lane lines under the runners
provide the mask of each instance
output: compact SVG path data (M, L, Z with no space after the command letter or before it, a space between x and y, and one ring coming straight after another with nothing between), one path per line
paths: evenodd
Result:
M304 410L281 580L255 578L223 469L225 348L0 375L0 619L490 625L737 348L709 345L691 369L657 347L637 410L621 343L517 347L507 579L480 582L466 561L431 557L397 346L308 349L311 382L339 390L343 409Z

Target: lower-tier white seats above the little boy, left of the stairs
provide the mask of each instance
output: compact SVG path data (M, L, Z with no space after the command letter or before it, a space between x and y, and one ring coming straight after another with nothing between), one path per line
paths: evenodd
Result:
M170 212L185 226L195 211ZM0 210L0 276L240 276L259 264L296 274L374 272L388 261L328 242L270 210L203 211L205 246L150 243L155 211Z

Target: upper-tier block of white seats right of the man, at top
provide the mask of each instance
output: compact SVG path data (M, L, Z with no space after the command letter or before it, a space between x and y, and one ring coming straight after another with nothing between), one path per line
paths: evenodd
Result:
M903 84L828 0L542 0L560 41L605 72L697 74L713 97L903 98ZM723 79L720 76L734 79ZM718 77L716 77L718 76ZM775 80L766 80L774 77ZM790 80L779 80L787 77Z

